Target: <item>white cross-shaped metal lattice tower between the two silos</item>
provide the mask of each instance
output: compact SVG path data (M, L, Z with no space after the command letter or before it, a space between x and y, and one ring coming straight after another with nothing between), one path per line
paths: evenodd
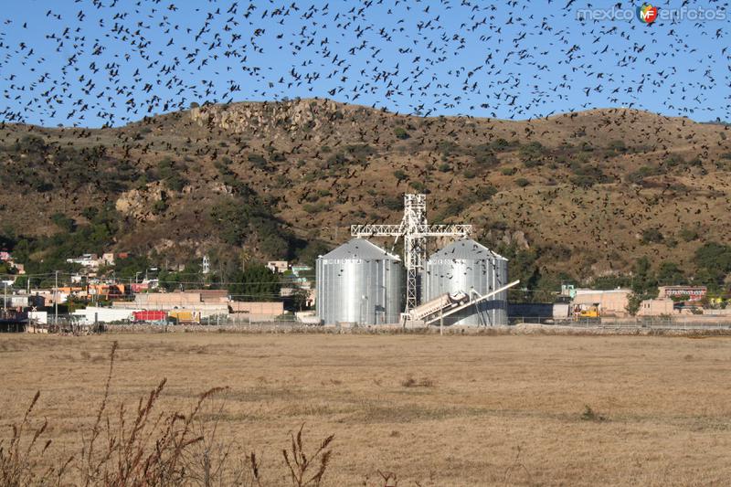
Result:
M353 225L354 237L404 238L404 263L406 264L406 312L419 304L421 271L427 259L427 238L468 237L471 225L429 225L427 223L427 196L404 195L404 217L399 225Z

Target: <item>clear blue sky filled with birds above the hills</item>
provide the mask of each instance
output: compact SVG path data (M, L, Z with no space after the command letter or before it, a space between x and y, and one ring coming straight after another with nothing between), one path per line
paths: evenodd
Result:
M515 120L617 106L731 120L731 13L646 26L636 16L577 20L585 8L571 0L13 2L0 13L0 120L99 127L192 101L295 97Z

